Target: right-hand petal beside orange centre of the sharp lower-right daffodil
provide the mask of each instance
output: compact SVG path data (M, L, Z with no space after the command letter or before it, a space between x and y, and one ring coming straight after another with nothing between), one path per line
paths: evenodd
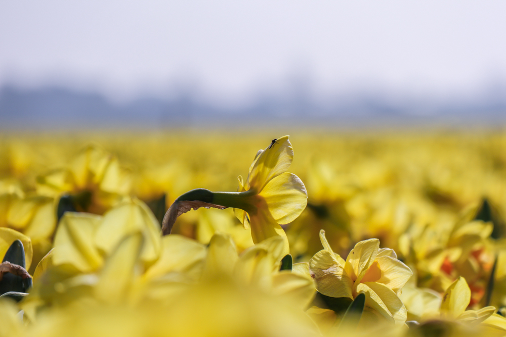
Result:
M390 256L378 257L376 261L381 270L381 278L376 282L385 284L396 294L399 294L401 288L413 275L411 269L401 261Z

